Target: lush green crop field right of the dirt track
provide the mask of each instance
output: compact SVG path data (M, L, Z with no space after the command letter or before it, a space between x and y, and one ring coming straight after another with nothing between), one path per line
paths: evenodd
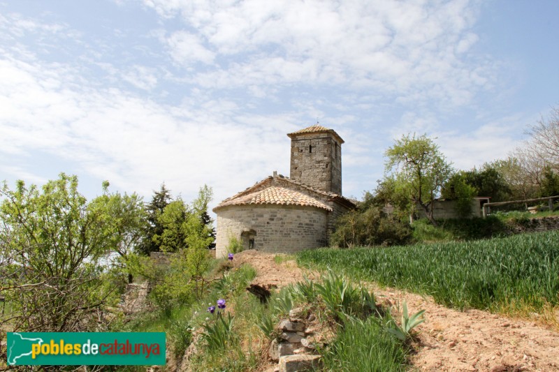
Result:
M390 248L320 248L300 265L433 295L454 308L539 311L559 305L559 232Z

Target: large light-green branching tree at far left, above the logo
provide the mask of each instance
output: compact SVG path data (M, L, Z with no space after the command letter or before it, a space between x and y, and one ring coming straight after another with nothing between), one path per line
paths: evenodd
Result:
M0 290L10 304L1 324L27 332L92 329L88 320L114 288L101 258L112 248L110 216L78 193L78 178L60 174L40 191L17 181L0 189Z

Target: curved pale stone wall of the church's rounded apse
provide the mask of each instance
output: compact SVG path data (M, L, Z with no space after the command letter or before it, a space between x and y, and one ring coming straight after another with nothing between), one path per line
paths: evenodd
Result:
M216 256L224 257L229 237L254 231L254 249L294 253L326 246L328 211L290 205L240 205L217 213Z

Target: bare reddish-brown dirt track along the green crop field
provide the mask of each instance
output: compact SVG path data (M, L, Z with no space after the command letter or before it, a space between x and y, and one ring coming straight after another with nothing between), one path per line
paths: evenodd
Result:
M282 288L305 274L293 260L276 264L275 254L244 251L234 265L248 263L257 276L253 283ZM535 322L486 311L456 311L422 297L391 288L374 289L377 302L408 304L409 312L426 309L417 327L419 341L410 357L419 371L559 371L559 333Z

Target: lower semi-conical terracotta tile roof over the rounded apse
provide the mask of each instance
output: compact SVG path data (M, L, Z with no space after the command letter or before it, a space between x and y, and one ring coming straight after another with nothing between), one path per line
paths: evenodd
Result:
M301 205L305 207L317 207L332 211L331 207L324 204L320 200L305 195L299 191L291 190L281 186L270 186L268 188L254 191L242 195L235 195L219 203L215 209L228 207L230 205L248 205L248 204L282 204L282 205ZM214 210L215 210L214 209Z

